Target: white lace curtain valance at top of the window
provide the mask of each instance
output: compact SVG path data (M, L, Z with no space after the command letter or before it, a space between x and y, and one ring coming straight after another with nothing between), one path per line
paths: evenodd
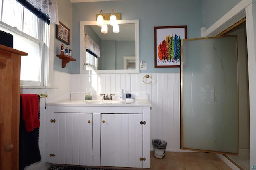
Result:
M40 9L44 14L47 14L50 23L59 25L58 4L56 0L26 0L35 8Z

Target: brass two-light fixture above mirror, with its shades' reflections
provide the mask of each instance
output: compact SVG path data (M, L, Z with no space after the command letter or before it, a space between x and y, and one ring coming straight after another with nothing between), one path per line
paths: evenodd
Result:
M97 16L97 15L96 15ZM121 14L118 13L119 19L121 19ZM104 19L110 20L110 25L113 26L113 32L119 33L119 25L117 24L117 17L115 11L113 9L111 16L107 16L107 14L102 14L102 10L100 10L100 14L97 16L97 23L99 27L101 27L101 32L106 34L108 33L108 26L104 24Z

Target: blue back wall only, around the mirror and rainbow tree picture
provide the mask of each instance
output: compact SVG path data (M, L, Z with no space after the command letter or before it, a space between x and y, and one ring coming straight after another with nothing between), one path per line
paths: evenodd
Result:
M140 60L148 69L141 73L180 72L180 68L154 68L154 27L187 25L188 38L200 37L202 0L126 0L73 3L73 56L80 56L80 21L94 21L96 14L121 13L122 20L140 21ZM79 73L79 59L71 63L71 73Z

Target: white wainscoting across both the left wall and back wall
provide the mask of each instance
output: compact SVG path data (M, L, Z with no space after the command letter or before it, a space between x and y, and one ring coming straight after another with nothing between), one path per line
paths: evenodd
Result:
M21 88L20 93L48 94L48 98L40 98L40 131L39 147L42 160L30 165L26 170L46 170L46 133L45 103L70 99L71 92L85 92L92 88L94 93L148 93L152 103L151 139L167 141L166 151L182 152L180 149L180 74L149 74L152 83L142 82L145 74L68 74L54 71L53 89ZM146 79L147 82L150 78ZM152 145L151 145L152 150Z

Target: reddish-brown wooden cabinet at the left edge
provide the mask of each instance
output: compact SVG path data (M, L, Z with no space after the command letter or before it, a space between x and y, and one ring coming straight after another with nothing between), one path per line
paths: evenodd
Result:
M22 51L0 45L0 169L19 169L20 61Z

